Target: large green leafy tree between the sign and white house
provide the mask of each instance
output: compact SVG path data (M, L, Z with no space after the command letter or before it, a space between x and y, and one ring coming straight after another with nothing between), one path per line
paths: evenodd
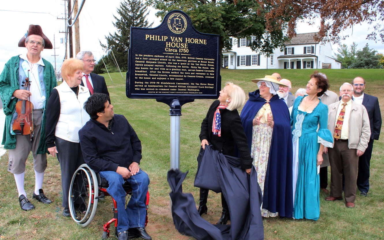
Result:
M158 9L157 17L166 15L171 10L182 10L189 15L192 24L199 32L220 35L220 53L222 49L230 50L230 37L236 38L256 36L249 44L252 50L269 56L275 48L283 49L288 37L284 34L287 27L266 32L265 9L252 0L149 0L147 5ZM221 54L220 54L221 55Z

